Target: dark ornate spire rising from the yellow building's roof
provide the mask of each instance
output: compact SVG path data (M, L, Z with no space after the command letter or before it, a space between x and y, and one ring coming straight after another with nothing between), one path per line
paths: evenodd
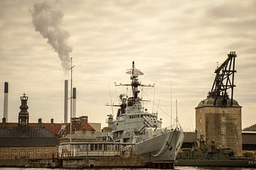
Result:
M18 126L23 126L26 127L28 126L28 105L27 105L27 101L28 101L28 96L26 96L26 94L23 94L23 96L21 96L21 106L20 109L21 111L18 113Z

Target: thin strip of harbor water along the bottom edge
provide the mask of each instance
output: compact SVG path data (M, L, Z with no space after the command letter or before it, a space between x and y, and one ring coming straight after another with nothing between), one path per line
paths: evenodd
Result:
M1 170L48 170L45 168L0 168ZM236 167L220 167L220 166L211 166L211 167L196 167L196 166L176 166L176 170L252 170L250 168L236 168ZM66 170L66 169L55 169L55 170ZM111 170L111 169L105 169ZM115 169L119 170L119 169ZM129 170L129 169L124 169ZM138 169L144 170L144 169ZM154 170L154 169L152 169Z

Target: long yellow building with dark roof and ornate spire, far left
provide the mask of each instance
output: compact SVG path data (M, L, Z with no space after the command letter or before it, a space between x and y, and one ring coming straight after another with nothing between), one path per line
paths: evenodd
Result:
M58 139L45 127L29 125L28 96L21 96L18 123L0 124L0 159L48 159L57 151Z

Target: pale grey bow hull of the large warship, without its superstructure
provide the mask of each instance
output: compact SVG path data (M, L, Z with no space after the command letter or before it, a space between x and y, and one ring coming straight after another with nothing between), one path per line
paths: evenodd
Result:
M174 163L183 143L181 130L170 130L164 134L151 137L135 145L135 153L144 158L144 162Z

